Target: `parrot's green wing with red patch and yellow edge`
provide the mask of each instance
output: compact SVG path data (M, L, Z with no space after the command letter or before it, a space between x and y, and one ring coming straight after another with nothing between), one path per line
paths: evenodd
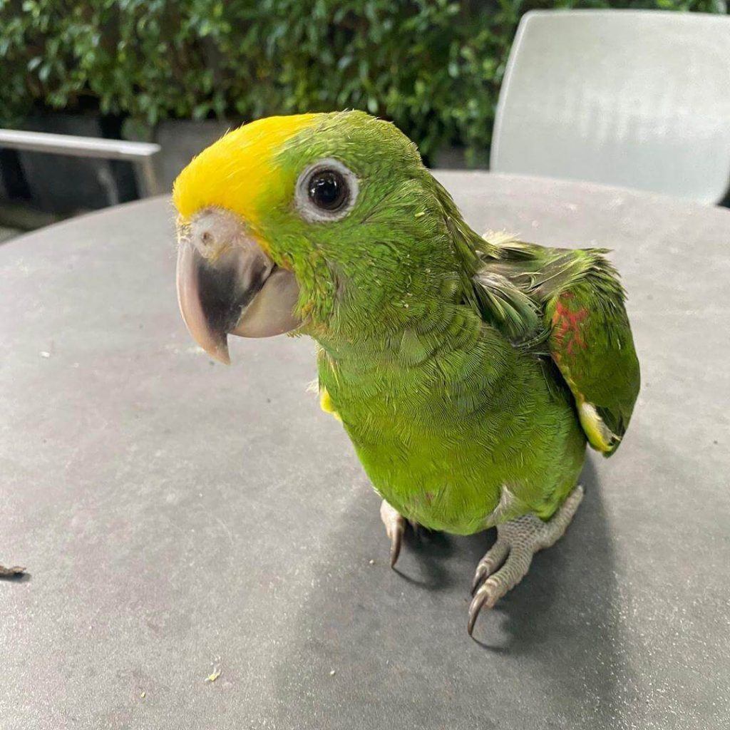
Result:
M604 258L607 251L545 248L490 234L485 240L484 267L475 277L488 291L481 303L499 325L499 307L495 309L491 299L504 309L505 299L517 298L525 309L518 294L529 298L539 326L532 334L525 326L522 342L542 343L575 397L588 442L610 456L634 410L639 361L624 307L626 295ZM502 293L505 288L508 295ZM520 321L526 323L525 318Z

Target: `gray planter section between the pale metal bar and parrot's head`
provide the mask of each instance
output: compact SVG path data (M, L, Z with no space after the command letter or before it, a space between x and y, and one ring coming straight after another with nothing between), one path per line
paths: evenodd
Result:
M153 158L160 188L172 191L172 183L180 170L205 147L237 126L235 123L206 120L165 120L154 128L141 126L128 120L123 126L123 137L135 142L157 142L162 147Z

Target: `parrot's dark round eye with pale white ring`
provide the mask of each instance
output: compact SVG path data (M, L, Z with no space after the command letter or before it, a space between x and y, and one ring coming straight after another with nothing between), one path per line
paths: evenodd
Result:
M338 160L320 160L299 175L296 205L311 221L340 220L352 210L358 180Z

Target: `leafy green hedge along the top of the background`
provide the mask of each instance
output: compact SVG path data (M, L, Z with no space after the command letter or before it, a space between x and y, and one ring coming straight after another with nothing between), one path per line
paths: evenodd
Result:
M724 0L0 0L0 126L41 108L164 118L356 107L428 155L488 148L520 16Z

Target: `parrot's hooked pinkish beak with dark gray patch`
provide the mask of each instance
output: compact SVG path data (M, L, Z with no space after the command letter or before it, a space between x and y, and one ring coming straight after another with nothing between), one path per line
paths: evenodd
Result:
M179 226L177 301L193 339L228 364L228 334L272 337L301 324L299 285L235 213L208 208Z

